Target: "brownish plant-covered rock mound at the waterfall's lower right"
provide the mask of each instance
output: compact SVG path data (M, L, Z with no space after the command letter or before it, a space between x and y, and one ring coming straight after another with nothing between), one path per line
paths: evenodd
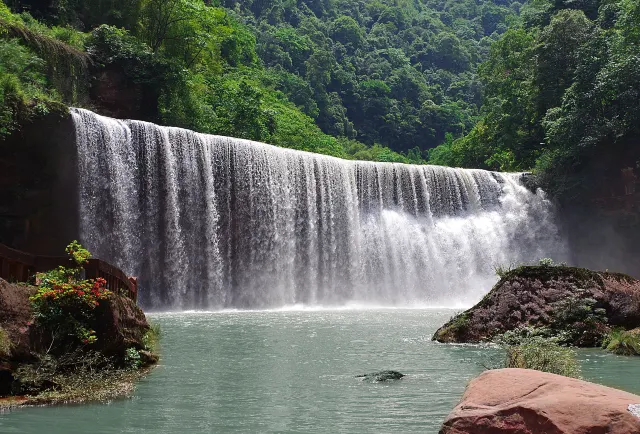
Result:
M624 274L562 266L525 266L504 275L484 299L436 331L439 342L478 343L518 327L544 327L554 306L569 299L595 300L610 326L640 327L640 281Z

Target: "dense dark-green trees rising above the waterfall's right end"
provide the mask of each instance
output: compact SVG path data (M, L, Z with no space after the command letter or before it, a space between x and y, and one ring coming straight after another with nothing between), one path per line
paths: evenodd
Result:
M640 3L535 0L480 68L483 115L433 163L535 168L568 200L610 195L640 161Z

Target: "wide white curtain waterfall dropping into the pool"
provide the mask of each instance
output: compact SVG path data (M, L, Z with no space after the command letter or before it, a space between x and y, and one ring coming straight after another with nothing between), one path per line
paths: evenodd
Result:
M348 161L73 109L81 241L149 309L470 305L563 257L522 174Z

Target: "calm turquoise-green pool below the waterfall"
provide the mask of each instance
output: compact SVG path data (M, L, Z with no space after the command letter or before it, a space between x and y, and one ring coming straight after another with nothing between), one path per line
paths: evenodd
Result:
M153 314L162 360L129 399L25 408L0 433L435 433L499 353L430 341L451 310ZM581 351L585 378L640 394L640 357ZM407 375L371 384L357 374Z

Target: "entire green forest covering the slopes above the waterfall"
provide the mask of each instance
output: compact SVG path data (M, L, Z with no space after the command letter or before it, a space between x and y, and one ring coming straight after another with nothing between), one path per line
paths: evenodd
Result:
M567 200L640 160L636 0L4 0L0 59L3 136L64 104L349 159L533 170Z

